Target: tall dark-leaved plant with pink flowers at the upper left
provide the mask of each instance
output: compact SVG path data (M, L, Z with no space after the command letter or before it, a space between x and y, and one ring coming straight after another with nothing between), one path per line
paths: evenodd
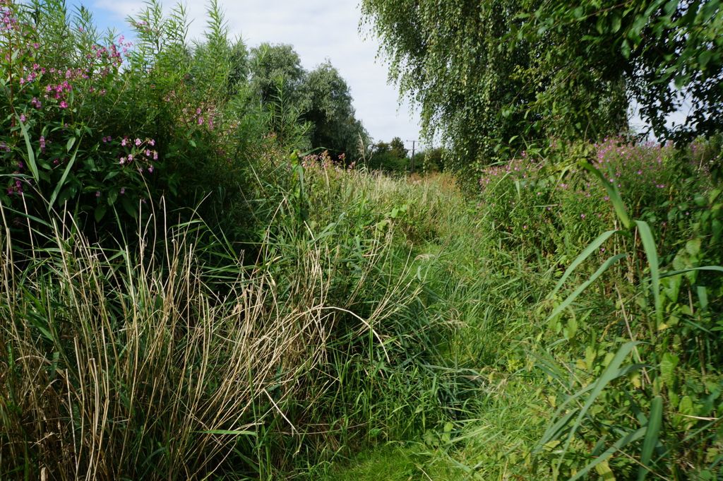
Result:
M155 140L113 122L131 44L101 42L82 11L59 25L62 8L0 0L0 202L35 216L77 204L96 221L119 203L135 216L160 159Z

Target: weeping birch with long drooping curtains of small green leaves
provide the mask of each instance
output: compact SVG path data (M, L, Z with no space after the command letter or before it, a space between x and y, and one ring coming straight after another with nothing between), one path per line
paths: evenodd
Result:
M555 43L513 35L523 2L367 0L362 12L390 57L390 76L419 102L424 133L444 134L457 170L506 160L550 136L597 139L624 125L622 71L587 65L571 88L553 84L536 61ZM541 101L553 88L561 95Z

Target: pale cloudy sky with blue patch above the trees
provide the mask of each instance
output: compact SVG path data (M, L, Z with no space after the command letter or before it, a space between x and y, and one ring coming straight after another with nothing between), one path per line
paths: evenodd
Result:
M84 5L99 29L114 27L131 36L126 17L144 7L138 0L71 0ZM163 2L171 9L176 2ZM375 141L419 138L419 114L399 105L398 89L388 83L388 69L377 58L379 42L368 30L359 31L357 0L218 0L226 15L229 38L242 38L251 48L263 42L290 43L301 64L312 70L330 60L346 80L354 98L356 117ZM205 27L205 1L185 2L192 23L189 38L200 38ZM417 144L419 149L419 143Z

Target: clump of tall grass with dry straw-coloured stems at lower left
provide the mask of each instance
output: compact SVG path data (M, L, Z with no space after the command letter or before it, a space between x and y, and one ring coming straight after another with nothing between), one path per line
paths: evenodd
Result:
M224 252L216 268L201 260L213 246L200 223L153 225L108 249L56 222L47 247L30 257L14 252L4 229L4 476L266 476L260 437L277 425L301 443L309 429L297 423L309 421L287 410L292 400L318 409L335 375L325 368L341 319L354 325L351 335L381 345L377 324L414 294L406 282L382 286L362 318L330 302L329 244L307 239L286 246L293 255L283 258L269 243L265 263L250 267ZM384 262L386 242L369 247L349 304Z

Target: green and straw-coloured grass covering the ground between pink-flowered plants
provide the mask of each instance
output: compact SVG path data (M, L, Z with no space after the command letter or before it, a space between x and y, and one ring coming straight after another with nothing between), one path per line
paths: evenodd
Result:
M531 225L534 191L500 188ZM277 189L254 260L200 221L112 248L44 226L22 252L4 231L4 477L719 471L715 190L664 242L638 211L563 232L588 239L573 254L490 229L508 213L447 176L311 168Z

